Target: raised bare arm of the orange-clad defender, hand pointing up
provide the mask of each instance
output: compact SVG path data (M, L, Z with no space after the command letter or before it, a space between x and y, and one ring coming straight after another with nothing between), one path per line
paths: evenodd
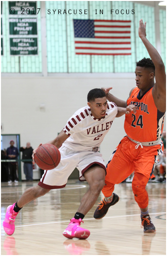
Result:
M139 29L138 29L139 37L141 38L143 44L145 45L150 58L155 66L155 80L156 83L152 90L152 96L155 102L155 106L161 112L166 111L166 73L165 73L165 65L162 61L161 56L157 52L157 50L153 47L153 45L146 38L146 22L143 23L143 20L139 21Z

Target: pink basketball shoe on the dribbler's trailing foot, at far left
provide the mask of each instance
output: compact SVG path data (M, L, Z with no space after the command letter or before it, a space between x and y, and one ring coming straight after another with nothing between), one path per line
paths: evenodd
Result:
M14 211L15 203L9 205L6 210L5 219L3 221L3 228L7 235L12 235L15 231L15 219L17 217L17 212Z

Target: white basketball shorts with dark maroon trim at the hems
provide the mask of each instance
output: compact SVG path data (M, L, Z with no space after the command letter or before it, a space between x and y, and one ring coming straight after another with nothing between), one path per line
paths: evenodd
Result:
M68 177L75 168L79 170L79 180L85 181L83 173L94 164L100 165L105 171L106 167L102 155L94 151L74 151L61 146L59 148L61 161L57 167L45 170L39 186L46 189L62 188L66 186Z

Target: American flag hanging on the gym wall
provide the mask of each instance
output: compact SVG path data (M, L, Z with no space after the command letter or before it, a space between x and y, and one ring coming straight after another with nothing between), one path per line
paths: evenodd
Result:
M73 19L75 54L131 55L131 20Z

